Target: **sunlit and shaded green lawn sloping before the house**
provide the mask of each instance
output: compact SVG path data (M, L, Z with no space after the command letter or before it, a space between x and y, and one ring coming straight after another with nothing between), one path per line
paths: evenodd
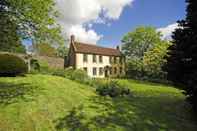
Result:
M0 131L196 131L182 91L119 80L132 96L111 99L61 77L0 78Z

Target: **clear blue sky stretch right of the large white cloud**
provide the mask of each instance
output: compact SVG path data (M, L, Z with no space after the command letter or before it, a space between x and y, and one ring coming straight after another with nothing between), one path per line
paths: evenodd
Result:
M97 24L93 28L103 34L98 42L104 46L115 46L122 36L138 26L166 27L177 20L185 18L185 0L135 0L127 6L119 20L112 21L111 26Z

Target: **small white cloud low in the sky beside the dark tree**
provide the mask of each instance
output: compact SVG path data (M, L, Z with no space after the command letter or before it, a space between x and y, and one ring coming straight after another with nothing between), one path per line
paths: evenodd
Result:
M157 31L161 32L162 33L162 39L166 39L166 40L171 40L172 39L172 32L175 31L175 29L178 28L178 23L173 23L173 24L170 24L166 27L162 27L162 28L159 28L157 29Z

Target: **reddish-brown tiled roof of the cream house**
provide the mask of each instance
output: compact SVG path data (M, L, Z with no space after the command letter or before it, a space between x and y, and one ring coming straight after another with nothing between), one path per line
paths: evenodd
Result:
M86 44L81 42L73 43L74 50L77 53L97 54L105 56L122 56L122 53L118 49L100 47L92 44Z

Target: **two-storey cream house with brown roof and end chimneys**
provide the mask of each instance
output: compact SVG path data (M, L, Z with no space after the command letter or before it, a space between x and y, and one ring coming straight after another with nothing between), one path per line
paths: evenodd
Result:
M93 78L120 77L125 74L125 57L119 47L113 49L76 42L72 35L67 66L83 69Z

